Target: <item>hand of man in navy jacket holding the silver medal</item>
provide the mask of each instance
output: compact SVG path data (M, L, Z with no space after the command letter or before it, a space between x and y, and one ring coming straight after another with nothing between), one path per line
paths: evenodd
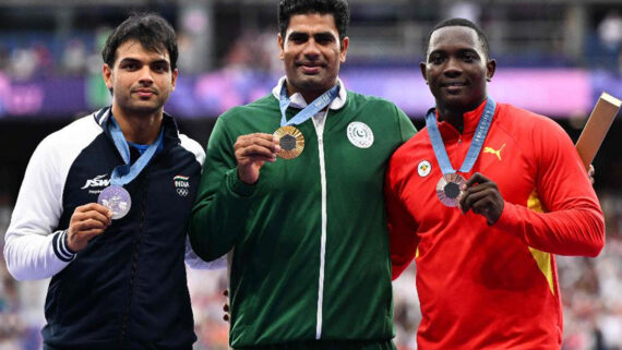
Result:
M69 249L74 253L80 252L94 237L104 233L110 224L112 212L100 204L89 203L76 207L67 230Z

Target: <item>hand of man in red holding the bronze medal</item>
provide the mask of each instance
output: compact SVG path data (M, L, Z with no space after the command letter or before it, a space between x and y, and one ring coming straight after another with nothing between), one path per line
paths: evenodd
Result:
M499 193L497 183L476 172L462 185L463 191L459 207L463 213L473 210L475 214L483 215L488 225L493 225L503 213L503 197Z

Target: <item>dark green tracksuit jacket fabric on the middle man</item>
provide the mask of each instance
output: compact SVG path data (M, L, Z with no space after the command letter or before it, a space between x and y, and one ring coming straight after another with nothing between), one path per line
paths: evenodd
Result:
M288 110L291 118L297 110ZM316 337L322 190L319 141L312 120L297 128L303 153L266 162L254 185L237 179L234 143L279 128L270 95L218 118L206 152L190 225L194 251L231 262L232 347ZM354 121L372 130L369 148L352 145ZM393 331L391 260L383 184L390 156L416 132L393 104L348 92L330 110L323 143L326 171L326 250L322 339L387 340Z

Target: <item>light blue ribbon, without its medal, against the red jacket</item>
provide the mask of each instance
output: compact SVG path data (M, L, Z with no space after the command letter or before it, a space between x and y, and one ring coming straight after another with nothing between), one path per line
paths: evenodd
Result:
M475 165L475 161L479 157L479 152L481 150L481 146L483 146L483 141L486 140L486 135L490 129L495 108L497 104L494 100L488 97L483 112L481 113L479 122L477 123L477 129L475 131L473 142L470 143L466 158L460 166L460 172L469 172ZM443 137L441 137L441 132L439 131L439 125L436 124L436 114L434 110L430 110L426 116L426 126L428 126L428 134L430 135L432 148L434 148L434 155L436 156L441 171L444 176L455 173L456 170L454 170L452 167L450 157L447 156L447 152L445 149L445 145L443 144Z

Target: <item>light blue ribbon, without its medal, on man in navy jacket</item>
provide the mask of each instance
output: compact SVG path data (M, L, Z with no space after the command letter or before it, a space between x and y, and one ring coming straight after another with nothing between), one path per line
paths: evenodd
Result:
M149 164L153 156L155 155L158 147L160 147L164 138L164 128L159 131L159 135L157 136L156 142L152 143L147 150L145 150L136 161L132 166L130 166L130 147L125 142L125 137L123 136L123 132L115 117L110 114L111 125L110 125L110 134L112 135L112 141L115 142L115 146L121 154L123 161L125 162L122 166L118 166L112 170L110 174L110 184L111 185L124 185L125 183L130 183L134 180L141 171Z

